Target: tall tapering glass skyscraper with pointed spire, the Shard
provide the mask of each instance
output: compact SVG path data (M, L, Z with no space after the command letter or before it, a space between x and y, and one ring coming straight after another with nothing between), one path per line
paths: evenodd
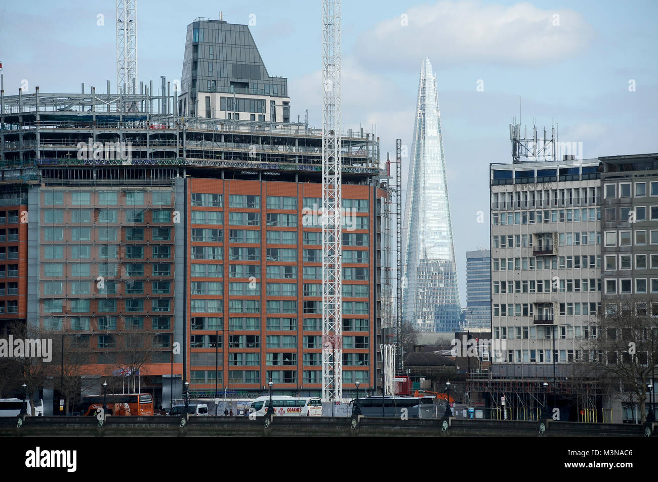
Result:
M403 322L423 332L459 328L459 288L436 77L422 60L407 199Z

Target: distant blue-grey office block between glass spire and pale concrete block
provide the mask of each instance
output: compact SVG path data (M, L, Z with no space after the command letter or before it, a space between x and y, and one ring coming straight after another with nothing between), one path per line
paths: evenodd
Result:
M466 329L491 327L491 250L466 252Z

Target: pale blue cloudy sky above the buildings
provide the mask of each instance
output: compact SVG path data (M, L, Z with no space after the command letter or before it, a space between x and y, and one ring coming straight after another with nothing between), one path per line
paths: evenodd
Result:
M0 0L5 95L105 92L107 79L114 91L114 8ZM288 78L291 118L308 109L321 127L320 1L139 0L138 80L180 79L188 24L220 10L249 25L270 76ZM465 253L489 246L489 164L511 162L509 123L555 124L584 158L658 152L657 19L652 0L343 1L343 125L375 132L382 163L395 139L411 146L421 58L434 67L462 306Z

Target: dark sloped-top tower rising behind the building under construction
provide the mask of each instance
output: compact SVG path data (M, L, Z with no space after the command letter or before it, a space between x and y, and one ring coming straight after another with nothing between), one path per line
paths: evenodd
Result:
M188 25L178 112L290 122L288 79L268 74L249 26L196 18Z

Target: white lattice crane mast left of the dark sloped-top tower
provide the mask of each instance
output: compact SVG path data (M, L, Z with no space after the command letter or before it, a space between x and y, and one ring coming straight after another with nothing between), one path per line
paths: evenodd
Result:
M116 0L116 93L137 93L137 0Z

